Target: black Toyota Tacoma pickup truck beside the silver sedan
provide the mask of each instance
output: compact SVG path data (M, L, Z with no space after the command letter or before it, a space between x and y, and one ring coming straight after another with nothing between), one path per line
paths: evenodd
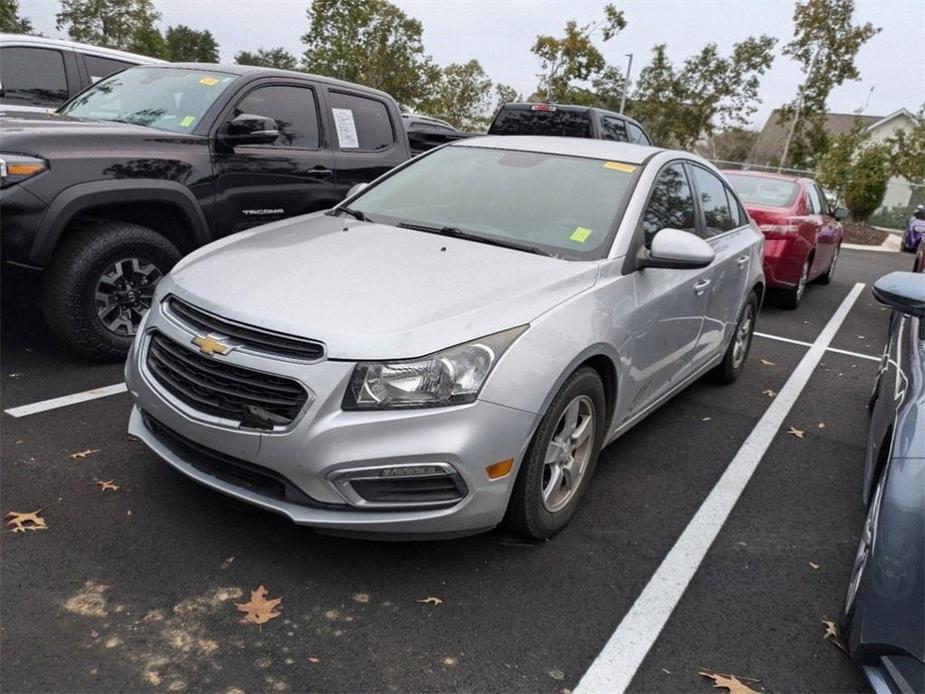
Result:
M97 359L125 354L181 255L410 157L387 94L240 65L132 68L0 133L2 258L42 270L49 327Z

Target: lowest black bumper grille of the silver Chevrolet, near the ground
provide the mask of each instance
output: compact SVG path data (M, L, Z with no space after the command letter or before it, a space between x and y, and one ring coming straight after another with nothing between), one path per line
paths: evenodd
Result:
M333 504L315 501L278 472L206 448L178 434L147 412L143 412L142 417L148 431L154 434L158 441L180 457L183 462L207 475L272 499L301 506L337 508Z

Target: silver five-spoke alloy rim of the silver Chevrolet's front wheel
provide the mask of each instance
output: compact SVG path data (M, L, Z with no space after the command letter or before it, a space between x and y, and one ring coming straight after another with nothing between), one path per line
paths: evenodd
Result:
M543 464L543 506L561 511L581 485L594 450L594 404L586 395L574 398L556 423Z

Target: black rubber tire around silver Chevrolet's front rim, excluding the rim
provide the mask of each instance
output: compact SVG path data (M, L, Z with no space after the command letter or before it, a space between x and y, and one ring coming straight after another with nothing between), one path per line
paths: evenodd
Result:
M578 489L568 504L561 510L550 513L543 505L543 468L546 448L555 434L556 425L566 406L580 395L587 396L594 409L594 444L588 466ZM555 535L571 520L585 491L587 490L601 444L607 430L606 399L601 378L594 369L584 367L572 374L553 398L533 435L533 440L521 463L508 506L505 525L521 534L535 539Z

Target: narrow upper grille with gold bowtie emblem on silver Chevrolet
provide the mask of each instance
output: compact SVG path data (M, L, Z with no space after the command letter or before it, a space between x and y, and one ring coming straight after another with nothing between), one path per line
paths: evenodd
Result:
M239 325L190 306L175 296L167 299L167 310L195 332L230 338L236 346L252 352L304 361L318 361L324 357L324 345L320 342Z

